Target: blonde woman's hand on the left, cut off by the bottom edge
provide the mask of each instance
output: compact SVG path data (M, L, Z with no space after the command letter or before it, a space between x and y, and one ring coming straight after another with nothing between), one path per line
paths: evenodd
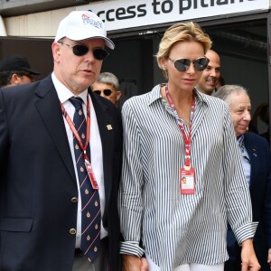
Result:
M148 271L148 263L145 257L123 255L123 271Z

